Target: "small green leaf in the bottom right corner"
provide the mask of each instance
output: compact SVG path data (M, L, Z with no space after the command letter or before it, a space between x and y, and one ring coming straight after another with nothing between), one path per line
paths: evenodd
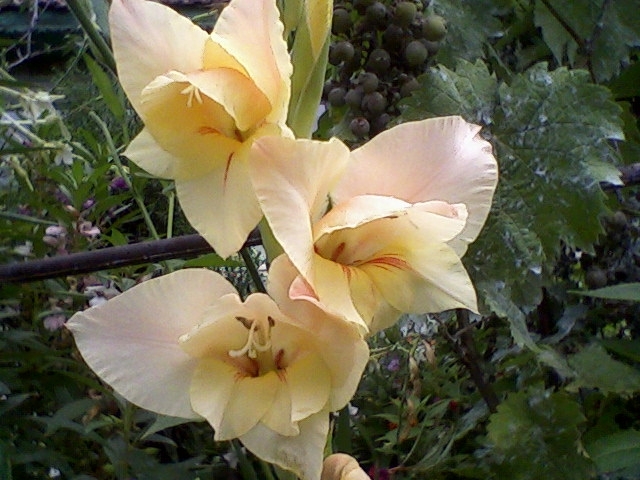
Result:
M586 444L585 450L598 467L598 473L606 474L630 467L640 467L640 432L624 430L600 437Z

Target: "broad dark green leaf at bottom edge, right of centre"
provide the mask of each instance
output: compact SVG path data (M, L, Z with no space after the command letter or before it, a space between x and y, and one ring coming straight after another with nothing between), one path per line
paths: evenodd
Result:
M578 449L578 426L584 421L580 405L564 393L510 394L487 427L497 478L591 478L593 468Z

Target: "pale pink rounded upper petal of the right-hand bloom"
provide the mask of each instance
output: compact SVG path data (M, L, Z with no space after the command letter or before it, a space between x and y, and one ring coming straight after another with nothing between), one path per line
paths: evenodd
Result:
M484 225L498 180L491 145L478 135L479 130L461 117L442 117L382 132L352 152L333 198L340 203L356 195L374 194L411 203L463 203L469 218L452 243L462 254Z

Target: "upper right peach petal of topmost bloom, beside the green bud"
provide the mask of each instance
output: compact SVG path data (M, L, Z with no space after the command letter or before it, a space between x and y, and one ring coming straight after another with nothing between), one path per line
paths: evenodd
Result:
M292 66L283 31L276 2L255 0L230 2L211 33L269 99L269 123L284 123L289 105Z

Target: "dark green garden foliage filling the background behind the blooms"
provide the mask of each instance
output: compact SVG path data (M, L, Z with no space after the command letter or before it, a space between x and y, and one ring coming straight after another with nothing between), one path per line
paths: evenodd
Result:
M355 59L330 57L316 136L357 145L395 123L462 115L483 126L501 177L465 257L483 315L408 316L371 339L334 450L379 479L638 478L640 17L629 12L640 1L416 1L400 37L401 2L376 6L380 18L374 3L335 2L348 22L334 25L334 55L348 42ZM104 3L87 6L106 31ZM120 158L139 122L95 42L42 5L1 8L54 25L0 25L1 263L191 233L171 183ZM447 23L438 41L418 20L434 14ZM56 22L66 36L54 43ZM428 50L419 65L403 50L414 40ZM206 424L114 396L61 328L195 265L252 288L242 259L215 254L0 285L0 478L285 478L214 443Z

